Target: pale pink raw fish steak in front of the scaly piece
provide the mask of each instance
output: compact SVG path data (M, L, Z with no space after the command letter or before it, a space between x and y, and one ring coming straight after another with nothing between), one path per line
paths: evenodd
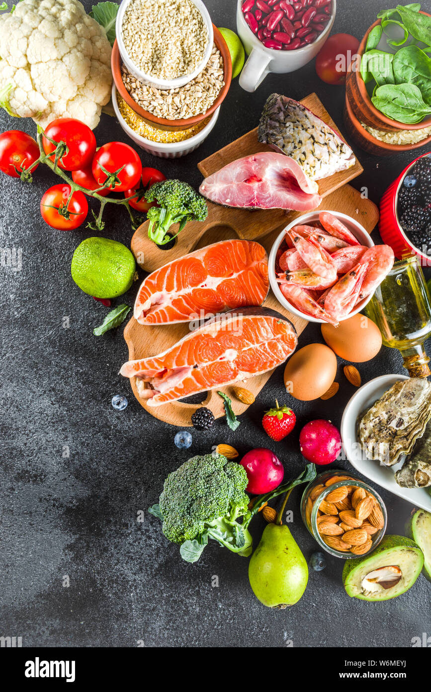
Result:
M241 209L316 209L318 185L290 156L260 152L228 163L205 178L200 194Z

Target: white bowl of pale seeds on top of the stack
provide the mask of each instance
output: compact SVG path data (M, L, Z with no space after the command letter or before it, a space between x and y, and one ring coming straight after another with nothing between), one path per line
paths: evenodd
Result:
M128 71L157 89L193 80L213 48L213 25L202 0L123 0L115 31Z

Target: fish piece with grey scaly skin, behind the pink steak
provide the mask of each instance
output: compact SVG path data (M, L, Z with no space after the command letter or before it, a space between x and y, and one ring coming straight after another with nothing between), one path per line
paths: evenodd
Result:
M356 158L339 134L312 111L278 93L263 107L258 140L291 156L312 180L352 167Z

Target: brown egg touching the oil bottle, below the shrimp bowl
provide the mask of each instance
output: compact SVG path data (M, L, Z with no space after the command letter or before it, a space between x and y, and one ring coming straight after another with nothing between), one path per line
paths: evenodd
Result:
M381 349L379 327L365 315L349 317L339 327L322 325L322 336L337 356L352 363L371 361Z

